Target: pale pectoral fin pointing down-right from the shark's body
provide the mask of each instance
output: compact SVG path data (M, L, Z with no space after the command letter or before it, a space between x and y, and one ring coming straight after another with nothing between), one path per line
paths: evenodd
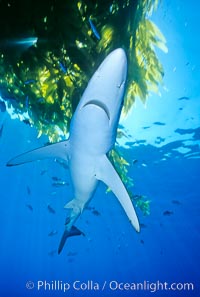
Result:
M131 224L136 229L136 231L139 232L140 226L131 199L119 175L115 171L106 155L101 157L98 162L96 178L103 181L112 190L126 212Z

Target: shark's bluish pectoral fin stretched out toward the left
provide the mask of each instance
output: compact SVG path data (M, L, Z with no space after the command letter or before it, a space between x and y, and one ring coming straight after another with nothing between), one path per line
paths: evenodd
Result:
M46 158L61 158L67 161L68 151L69 141L61 141L21 154L11 159L6 165L15 166Z

